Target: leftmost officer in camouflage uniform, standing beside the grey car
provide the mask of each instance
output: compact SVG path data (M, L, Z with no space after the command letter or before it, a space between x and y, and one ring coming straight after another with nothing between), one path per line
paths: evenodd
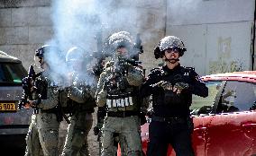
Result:
M59 155L59 123L62 116L58 112L59 88L52 79L50 61L46 58L50 54L59 56L59 48L45 45L35 51L35 61L42 72L35 78L33 100L29 100L35 111L26 136L25 155Z

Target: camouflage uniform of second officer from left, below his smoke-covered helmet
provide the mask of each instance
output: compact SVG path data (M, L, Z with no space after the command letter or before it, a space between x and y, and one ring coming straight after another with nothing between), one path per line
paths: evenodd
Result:
M91 82L82 82L81 76L76 76L76 86L70 88L69 101L72 103L71 123L69 124L66 142L62 152L64 155L89 155L87 134L93 125L92 113L96 107L95 91ZM83 77L83 76L82 76ZM92 84L93 85L93 84Z

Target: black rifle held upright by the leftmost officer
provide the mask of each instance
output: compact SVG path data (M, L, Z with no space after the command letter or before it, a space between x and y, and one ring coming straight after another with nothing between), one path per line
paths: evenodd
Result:
M30 65L28 75L23 78L23 96L22 99L19 101L18 109L23 108L29 100L32 100L32 87L33 82L35 81L35 72L33 66Z

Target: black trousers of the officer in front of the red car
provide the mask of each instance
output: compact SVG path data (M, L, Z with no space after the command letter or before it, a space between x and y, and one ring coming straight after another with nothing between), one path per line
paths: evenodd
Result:
M177 156L194 156L191 143L192 132L192 120L156 121L152 117L147 156L166 156L169 143Z

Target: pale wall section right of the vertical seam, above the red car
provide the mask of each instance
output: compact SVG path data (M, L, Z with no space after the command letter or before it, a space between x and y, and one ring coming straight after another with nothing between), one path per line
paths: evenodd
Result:
M200 75L251 69L255 1L168 1L167 35L184 40L181 63Z

